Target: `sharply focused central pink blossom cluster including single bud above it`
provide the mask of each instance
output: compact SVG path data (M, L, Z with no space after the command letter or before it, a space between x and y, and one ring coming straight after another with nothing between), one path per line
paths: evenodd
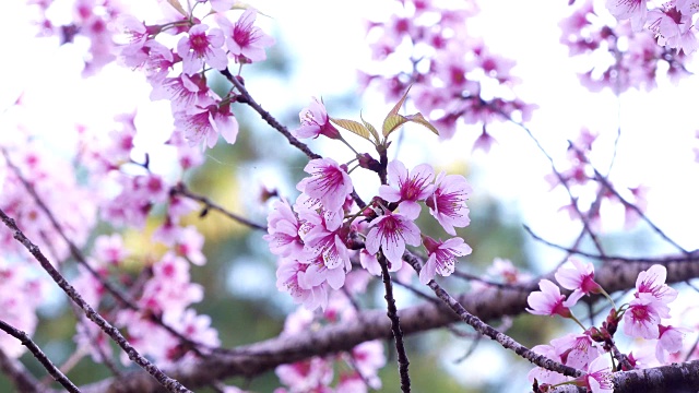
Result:
M339 135L324 106L317 100L300 118L297 135ZM358 154L359 165L370 162L367 156ZM462 176L441 172L435 177L427 164L408 171L403 163L393 160L387 166L388 183L379 188L369 206L355 210L354 188L346 165L332 158L318 158L310 160L304 170L310 176L298 182L301 194L296 203L291 205L284 200L274 203L265 239L272 253L281 257L277 287L309 309L325 308L329 289L336 290L344 285L357 250L362 266L379 275L379 251L386 258L388 270L395 272L403 265L406 245L424 245L428 254L419 276L424 284L437 273L450 275L457 258L471 253L462 238L435 240L422 236L414 223L420 214L419 202L424 202L449 235L457 235L455 227L469 225L465 202L471 187Z

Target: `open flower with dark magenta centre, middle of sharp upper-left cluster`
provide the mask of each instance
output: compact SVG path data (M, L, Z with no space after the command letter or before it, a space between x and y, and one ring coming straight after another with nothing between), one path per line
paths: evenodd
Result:
M224 43L223 32L220 28L209 31L205 24L194 25L189 29L189 35L180 38L177 44L177 53L182 58L182 72L193 75L202 70L204 62L223 70L228 66L226 52L221 48Z

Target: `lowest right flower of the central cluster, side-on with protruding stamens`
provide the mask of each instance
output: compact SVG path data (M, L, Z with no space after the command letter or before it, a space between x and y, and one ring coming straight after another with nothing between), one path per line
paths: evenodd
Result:
M451 275L454 272L457 257L467 255L472 251L471 247L459 237L447 241L435 241L433 238L425 236L423 243L429 257L419 271L419 282L422 284L429 283L435 277L435 273L439 273L445 277Z

